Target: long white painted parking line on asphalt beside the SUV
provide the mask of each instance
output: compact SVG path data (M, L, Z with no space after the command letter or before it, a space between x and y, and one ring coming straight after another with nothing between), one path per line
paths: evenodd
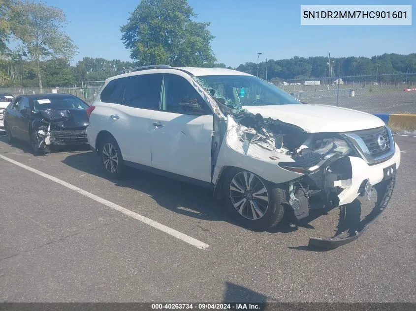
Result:
M106 205L106 206L108 206L112 209L115 209L116 211L119 211L119 212L121 212L121 213L123 213L127 216L130 216L131 218L134 218L138 221L141 221L142 223L145 223L149 226L152 226L156 229L159 229L160 231L163 231L167 234L170 234L170 235L174 236L175 238L178 238L178 239L180 239L184 242L187 242L188 244L191 244L191 245L197 247L200 250L205 250L209 246L208 244L205 244L204 242L201 242L197 239L194 239L193 237L191 237L189 235L186 235L182 232L176 231L175 229L169 228L168 226L164 226L164 225L162 225L158 222L155 222L154 220L151 220L150 218L147 218L147 217L144 217L144 216L139 215L137 213L134 213L134 212L128 210L127 208L124 208L124 207L122 207L120 205L117 205L113 202L107 201L106 199L97 197L96 195L93 195L92 193L89 193L85 190L82 190L81 188L78 188L74 185L71 185L71 184L69 184L69 183L67 183L67 182L65 182L65 181L63 181L59 178L48 175L44 172L41 172L40 170L32 169L31 167L29 167L27 165L24 165L20 162L14 161L14 160L12 160L10 158L7 158L7 157L5 157L1 154L0 154L0 158L3 159L3 160L8 161L10 163L13 163L13 164L25 169L25 170L30 170L31 172L33 172L35 174L38 174L38 175L40 175L42 177L45 177L45 178L48 178L49 180L52 180L52 181L54 181L54 182L56 182L60 185L63 185L64 187L66 187L68 189L71 189L71 190L73 190L73 191L75 191L75 192L77 192L77 193L79 193L79 194L81 194L81 195L83 195L87 198L91 198L91 199L97 201L98 203L104 204L104 205Z

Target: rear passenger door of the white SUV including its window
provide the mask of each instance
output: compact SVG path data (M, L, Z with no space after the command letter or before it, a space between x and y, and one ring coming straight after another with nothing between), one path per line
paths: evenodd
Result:
M118 79L124 92L112 107L109 128L125 161L152 166L150 117L159 107L162 78L148 74Z

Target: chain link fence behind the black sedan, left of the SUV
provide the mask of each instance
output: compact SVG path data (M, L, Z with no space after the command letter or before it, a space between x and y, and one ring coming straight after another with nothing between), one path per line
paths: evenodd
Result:
M0 93L13 96L41 93L72 94L91 104L102 85L104 81L87 81L83 82L83 86L43 87L42 92L39 87L0 87Z

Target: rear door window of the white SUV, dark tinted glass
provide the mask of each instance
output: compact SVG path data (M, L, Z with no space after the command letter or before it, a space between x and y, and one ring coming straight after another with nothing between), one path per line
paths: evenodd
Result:
M123 105L142 109L158 109L161 74L131 76L127 79Z

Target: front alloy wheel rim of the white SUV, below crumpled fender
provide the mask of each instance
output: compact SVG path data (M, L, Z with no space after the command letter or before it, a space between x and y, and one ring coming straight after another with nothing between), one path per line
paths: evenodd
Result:
M242 171L231 180L231 202L237 212L250 220L264 216L269 207L269 194L261 179L254 173Z

